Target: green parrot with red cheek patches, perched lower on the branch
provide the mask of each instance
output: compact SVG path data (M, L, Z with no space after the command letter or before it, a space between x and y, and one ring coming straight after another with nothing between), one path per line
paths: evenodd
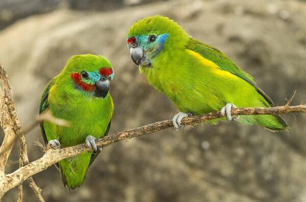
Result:
M49 109L55 118L69 122L66 127L44 121L41 130L45 143L65 148L86 142L93 149L59 162L63 183L69 189L83 183L89 165L99 154L95 139L109 131L114 109L109 93L113 76L112 65L105 57L74 55L43 91L39 113Z

